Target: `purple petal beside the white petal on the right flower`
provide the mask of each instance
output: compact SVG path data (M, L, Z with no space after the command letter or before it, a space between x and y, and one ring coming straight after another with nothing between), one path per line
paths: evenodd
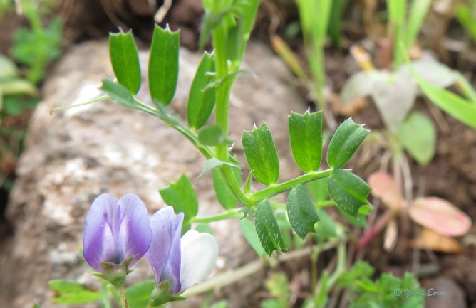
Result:
M162 208L150 218L152 243L145 254L157 282L170 280L170 292L180 291L180 232L183 213L174 218L171 206Z

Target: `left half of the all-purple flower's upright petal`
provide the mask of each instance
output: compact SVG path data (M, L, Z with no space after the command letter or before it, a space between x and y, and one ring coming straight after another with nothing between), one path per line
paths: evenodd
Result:
M122 259L122 252L115 241L118 224L114 221L117 217L118 203L108 194L95 198L86 216L83 255L90 267L99 272L103 272L100 262L116 263Z

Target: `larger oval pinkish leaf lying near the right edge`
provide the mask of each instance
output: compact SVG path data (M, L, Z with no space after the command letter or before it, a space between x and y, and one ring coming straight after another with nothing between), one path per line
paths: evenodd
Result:
M415 223L440 235L465 235L471 228L469 216L452 203L436 197L415 199L408 213Z

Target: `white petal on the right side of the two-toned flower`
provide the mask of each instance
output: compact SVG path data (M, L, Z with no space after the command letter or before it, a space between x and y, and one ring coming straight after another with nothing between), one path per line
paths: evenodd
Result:
M180 247L180 283L183 292L212 273L218 257L218 245L212 235L189 230L182 236Z

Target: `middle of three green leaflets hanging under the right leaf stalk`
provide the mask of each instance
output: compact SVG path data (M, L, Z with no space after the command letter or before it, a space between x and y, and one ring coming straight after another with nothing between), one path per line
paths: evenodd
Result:
M304 239L309 232L316 232L314 224L319 221L316 208L307 189L298 184L289 191L286 202L289 223L300 238Z

